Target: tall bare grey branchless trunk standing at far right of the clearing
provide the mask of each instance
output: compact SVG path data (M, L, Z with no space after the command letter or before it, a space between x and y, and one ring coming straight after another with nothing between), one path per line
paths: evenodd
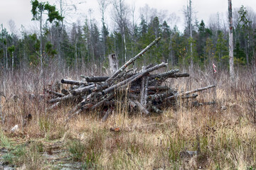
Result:
M233 21L232 21L232 3L228 0L228 21L229 21L229 60L230 60L230 78L235 79L234 75L234 55L233 55Z

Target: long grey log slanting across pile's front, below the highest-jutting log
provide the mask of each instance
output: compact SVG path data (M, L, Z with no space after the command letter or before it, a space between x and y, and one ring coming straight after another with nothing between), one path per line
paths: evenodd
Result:
M166 67L166 63L162 62L161 64L158 64L154 67L146 69L144 72L141 72L139 74L134 75L133 77L130 77L129 79L125 79L124 81L121 81L118 84L115 84L114 86L111 86L110 88L105 89L104 91L102 91L102 95L108 94L111 91L114 91L114 89L117 89L119 87L127 86L128 84L131 84L132 82L137 81L137 79L140 79L145 74L147 74L149 72L153 72L154 70L159 69L161 67Z

